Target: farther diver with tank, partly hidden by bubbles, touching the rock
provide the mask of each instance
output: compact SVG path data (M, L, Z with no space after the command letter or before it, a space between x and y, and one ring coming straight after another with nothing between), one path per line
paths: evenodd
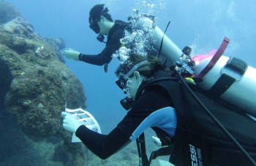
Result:
M163 49L160 49L162 47L160 42L165 33L155 25L155 17L152 15L142 15L136 10L134 16L128 17L127 23L121 20L114 21L108 7L105 7L105 4L97 4L89 12L89 23L91 30L98 34L99 42L104 42L104 36L108 36L107 42L104 42L105 49L97 55L88 55L69 48L63 51L66 58L104 66L107 72L108 63L113 55L124 46L128 50L151 55L158 54L159 50L162 50L163 55L167 55L170 59L178 58L178 56L172 56L174 53L182 54L181 51L176 51L178 47L167 36L165 36ZM117 58L120 60L119 56Z

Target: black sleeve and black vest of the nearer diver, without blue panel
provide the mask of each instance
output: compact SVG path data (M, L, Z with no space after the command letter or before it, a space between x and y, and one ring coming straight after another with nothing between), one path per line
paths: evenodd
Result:
M143 84L140 85L138 94L144 89L141 87ZM203 92L193 91L253 159L256 159L255 121L246 116L244 111L214 101ZM127 116L109 135L94 133L85 126L80 126L76 135L94 154L105 159L132 140L132 134L144 119L159 111L159 108L168 106L176 108L177 115L176 131L172 140L175 141L174 149L170 153L171 163L182 166L249 165L244 154L241 154L230 138L227 138L186 88L177 81L161 81L146 87Z

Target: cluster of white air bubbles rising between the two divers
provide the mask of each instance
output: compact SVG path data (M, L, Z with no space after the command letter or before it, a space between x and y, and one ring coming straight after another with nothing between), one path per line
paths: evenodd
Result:
M163 0L140 1L136 4L136 7L131 9L129 17L131 29L120 40L123 47L114 54L114 57L118 58L120 63L128 63L125 61L129 58L131 50L133 53L145 57L148 52L156 52L153 47L154 42L156 42L153 38L153 32L157 19L154 15L156 14L155 10L162 9L162 5L164 5Z

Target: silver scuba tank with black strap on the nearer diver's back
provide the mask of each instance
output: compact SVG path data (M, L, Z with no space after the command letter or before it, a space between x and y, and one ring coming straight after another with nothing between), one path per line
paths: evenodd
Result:
M225 38L219 47L222 51L218 50L208 58L194 57L197 59L194 60L194 74L203 79L203 82L198 82L197 85L212 98L220 98L246 111L247 114L256 116L256 89L252 87L256 84L256 68L248 66L238 58L222 55L225 51L223 47L227 47L228 42L229 39Z

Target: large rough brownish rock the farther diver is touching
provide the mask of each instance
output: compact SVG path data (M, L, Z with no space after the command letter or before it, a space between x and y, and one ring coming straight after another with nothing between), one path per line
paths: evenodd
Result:
M0 25L0 108L12 114L29 138L61 138L67 152L61 162L83 165L85 149L70 143L71 133L62 127L60 114L65 103L86 108L86 96L81 82L61 62L64 42L59 44L42 39L22 17ZM54 155L61 157L63 152Z

